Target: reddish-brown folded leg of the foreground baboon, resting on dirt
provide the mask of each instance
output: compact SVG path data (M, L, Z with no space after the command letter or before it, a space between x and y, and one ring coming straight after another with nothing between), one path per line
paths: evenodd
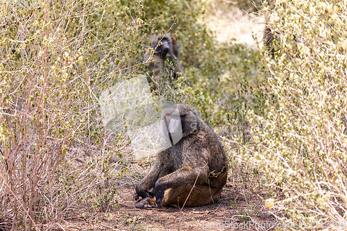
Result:
M180 187L167 189L162 199L162 205L184 205L185 207L203 206L217 203L220 198L221 189L211 188L208 185L196 185L192 190L192 185L182 185Z

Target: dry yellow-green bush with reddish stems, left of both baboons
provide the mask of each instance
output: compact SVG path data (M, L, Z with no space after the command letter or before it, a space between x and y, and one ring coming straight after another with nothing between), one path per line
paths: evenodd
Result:
M100 205L94 189L112 191L106 166L121 142L105 136L98 94L142 67L144 12L131 10L135 20L114 1L1 4L0 218L12 228L37 229Z

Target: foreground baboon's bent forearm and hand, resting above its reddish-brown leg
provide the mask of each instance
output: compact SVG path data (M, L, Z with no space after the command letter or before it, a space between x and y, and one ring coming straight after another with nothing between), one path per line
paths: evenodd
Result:
M179 187L181 185L201 185L208 179L207 164L202 167L183 167L167 176L164 176L155 182L154 194L158 207L162 207L164 191L169 188Z

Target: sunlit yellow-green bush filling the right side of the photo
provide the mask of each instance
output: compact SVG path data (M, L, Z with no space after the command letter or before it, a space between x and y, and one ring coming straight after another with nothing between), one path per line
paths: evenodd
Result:
M262 46L266 104L248 114L252 158L285 193L266 205L296 223L347 219L346 12L346 1L323 0L264 10L275 53Z

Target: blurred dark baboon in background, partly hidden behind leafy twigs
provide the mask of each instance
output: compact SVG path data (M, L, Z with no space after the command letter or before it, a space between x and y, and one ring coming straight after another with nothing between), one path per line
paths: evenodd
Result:
M184 75L182 69L178 65L178 50L179 44L170 35L162 36L151 35L151 48L153 48L153 59L154 62L149 64L149 70L151 78L158 83L164 73L168 74L169 81L172 79L176 80L179 75ZM150 58L151 54L146 53L145 60ZM169 59L169 63L165 63ZM153 89L158 86L156 83L153 85Z

